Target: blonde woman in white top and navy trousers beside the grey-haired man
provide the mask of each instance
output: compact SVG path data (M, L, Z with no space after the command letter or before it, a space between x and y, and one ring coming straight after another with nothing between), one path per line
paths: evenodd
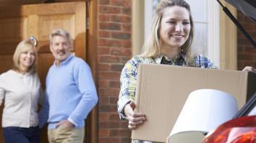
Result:
M14 68L0 75L0 105L4 98L2 127L8 143L38 143L38 99L40 81L35 73L35 46L30 41L17 45Z

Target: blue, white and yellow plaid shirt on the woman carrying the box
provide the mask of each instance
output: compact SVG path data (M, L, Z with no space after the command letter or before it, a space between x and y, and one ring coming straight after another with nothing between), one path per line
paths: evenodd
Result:
M184 54L181 54L174 58L174 60L168 60L168 57L162 55L161 57L133 57L124 65L121 71L120 77L120 93L119 101L117 102L117 109L120 119L127 120L127 116L124 114L124 106L130 101L135 101L137 70L140 63L156 63L166 65L179 65L179 66L192 66L198 68L217 68L210 60L202 55L195 56L187 63L185 61ZM149 141L132 140L132 143L153 143Z

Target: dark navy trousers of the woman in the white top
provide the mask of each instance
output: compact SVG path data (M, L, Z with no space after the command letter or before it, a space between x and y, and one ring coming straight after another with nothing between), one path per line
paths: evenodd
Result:
M22 128L9 126L3 128L6 143L39 143L39 127Z

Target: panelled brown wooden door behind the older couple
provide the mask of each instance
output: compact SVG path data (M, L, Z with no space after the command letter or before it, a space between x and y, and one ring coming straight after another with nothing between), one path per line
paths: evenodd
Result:
M72 53L85 60L85 1L0 7L0 74L12 68L12 55L17 44L34 36L38 40L37 71L45 88L48 68L54 62L49 50L48 35L56 28L66 29L71 34L74 47ZM4 142L1 135L0 142ZM48 142L46 127L41 134L41 142Z

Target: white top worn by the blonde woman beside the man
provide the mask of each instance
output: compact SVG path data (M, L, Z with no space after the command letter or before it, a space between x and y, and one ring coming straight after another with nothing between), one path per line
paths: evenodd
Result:
M0 103L5 98L2 126L37 126L39 96L40 81L36 73L22 75L8 70L1 74Z

